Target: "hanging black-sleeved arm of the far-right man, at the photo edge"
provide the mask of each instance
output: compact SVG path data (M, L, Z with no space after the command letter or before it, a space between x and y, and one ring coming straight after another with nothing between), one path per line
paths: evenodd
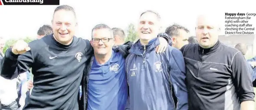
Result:
M236 94L241 103L241 110L254 110L253 84L246 66L246 60L241 52L237 52L232 61L233 82L236 88L238 88Z

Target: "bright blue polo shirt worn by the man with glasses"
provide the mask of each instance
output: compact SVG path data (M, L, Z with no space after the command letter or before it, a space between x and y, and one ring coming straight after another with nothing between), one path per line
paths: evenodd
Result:
M87 110L125 110L127 92L125 58L114 51L103 65L94 58L89 74Z

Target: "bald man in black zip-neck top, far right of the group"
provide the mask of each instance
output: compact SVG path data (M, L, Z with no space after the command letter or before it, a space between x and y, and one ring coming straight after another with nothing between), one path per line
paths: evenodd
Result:
M241 52L219 42L219 30L213 20L199 16L198 43L181 48L189 110L254 110L253 85L246 60Z

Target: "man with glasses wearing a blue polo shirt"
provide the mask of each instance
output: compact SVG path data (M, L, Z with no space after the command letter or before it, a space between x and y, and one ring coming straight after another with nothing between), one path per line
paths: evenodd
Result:
M167 46L167 43L162 44ZM92 29L94 56L85 68L83 110L125 110L128 98L125 57L112 50L114 44L110 27L99 24Z

